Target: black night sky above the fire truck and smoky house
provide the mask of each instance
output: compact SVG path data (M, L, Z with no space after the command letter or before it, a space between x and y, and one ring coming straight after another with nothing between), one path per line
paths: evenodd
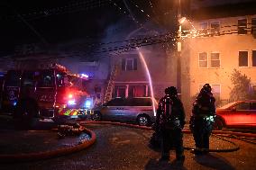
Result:
M123 0L1 0L0 56L23 44L94 40L131 13L138 24L160 23L158 19L172 5L165 0L125 2L127 5Z

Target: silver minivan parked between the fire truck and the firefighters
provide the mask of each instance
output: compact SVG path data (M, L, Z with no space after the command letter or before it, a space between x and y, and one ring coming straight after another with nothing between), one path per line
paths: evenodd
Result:
M155 107L157 102L154 100ZM95 109L94 121L133 121L142 126L150 126L155 121L150 97L114 98Z

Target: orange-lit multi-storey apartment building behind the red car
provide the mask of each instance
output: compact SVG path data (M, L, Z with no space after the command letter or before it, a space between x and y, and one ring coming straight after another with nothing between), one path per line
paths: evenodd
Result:
M232 101L234 69L251 79L248 93L256 93L255 3L209 2L191 2L197 7L187 22L191 30L182 40L182 89L188 106L206 83L212 85L218 104Z

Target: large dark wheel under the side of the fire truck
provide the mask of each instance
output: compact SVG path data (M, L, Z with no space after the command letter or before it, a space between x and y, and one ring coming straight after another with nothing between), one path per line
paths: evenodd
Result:
M17 129L31 129L37 123L35 118L37 107L29 101L22 101L17 104L14 111L14 122Z

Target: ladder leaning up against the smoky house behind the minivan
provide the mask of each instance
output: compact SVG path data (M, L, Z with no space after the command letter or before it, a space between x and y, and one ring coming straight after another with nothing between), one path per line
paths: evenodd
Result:
M115 79L116 73L117 73L117 64L115 64L111 69L111 74L109 76L109 80L105 90L104 103L112 99L112 94L114 90L114 79Z

